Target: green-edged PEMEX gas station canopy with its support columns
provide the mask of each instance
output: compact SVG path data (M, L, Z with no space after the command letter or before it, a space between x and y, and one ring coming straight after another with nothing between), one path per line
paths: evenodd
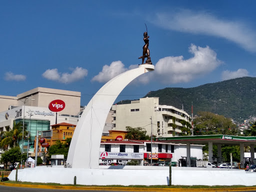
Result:
M213 144L217 145L217 156L221 155L221 144L240 146L240 168L244 168L244 146L254 148L256 145L256 136L233 136L233 135L196 135L196 136L173 136L173 137L155 137L154 141L166 141L173 143L186 144L186 165L191 166L190 144L208 144L209 161L213 161ZM254 150L250 151L251 161L254 158Z

